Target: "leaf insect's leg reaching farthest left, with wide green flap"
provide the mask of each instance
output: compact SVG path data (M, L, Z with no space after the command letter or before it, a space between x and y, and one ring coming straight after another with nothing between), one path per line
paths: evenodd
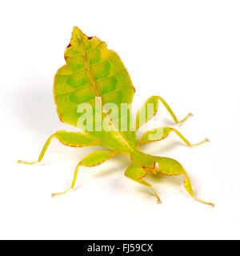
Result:
M45 145L42 148L42 151L38 157L38 161L35 162L25 162L22 160L18 160L18 163L25 163L29 165L33 165L35 163L41 162L44 154L46 153L46 150L48 146L50 145L50 142L53 138L58 138L59 142L62 142L62 144L66 146L74 146L74 147L82 147L82 146L102 146L101 142L98 142L98 140L91 138L90 135L82 134L80 132L74 133L74 132L67 132L65 130L59 130L55 134L52 134L50 138L47 139Z

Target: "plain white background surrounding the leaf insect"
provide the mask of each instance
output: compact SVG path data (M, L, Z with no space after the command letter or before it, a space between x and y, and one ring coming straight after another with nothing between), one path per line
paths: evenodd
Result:
M0 8L1 165L0 238L176 239L240 238L240 2L239 1L5 1ZM65 61L73 26L96 35L121 56L136 88L135 106L160 95L179 118L178 130L198 142L189 148L172 134L142 147L177 159L199 198L182 178L147 178L163 204L123 177L130 160L118 156L74 167L94 148L70 148L54 140L36 166L50 134L73 130L61 123L52 93ZM170 115L158 113L166 125Z

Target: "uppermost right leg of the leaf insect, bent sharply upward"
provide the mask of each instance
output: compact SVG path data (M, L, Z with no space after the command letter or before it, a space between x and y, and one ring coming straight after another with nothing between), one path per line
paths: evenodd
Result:
M152 96L146 100L146 102L142 105L140 110L138 111L136 117L136 130L138 130L142 125L148 122L154 115L157 113L158 110L158 100L162 102L163 106L166 107L166 110L170 113L171 117L174 119L175 123L185 122L187 118L190 118L193 114L187 114L186 118L178 121L178 118L174 114L174 111L171 110L170 106L166 103L166 101L159 97L159 96ZM152 107L151 107L152 106Z

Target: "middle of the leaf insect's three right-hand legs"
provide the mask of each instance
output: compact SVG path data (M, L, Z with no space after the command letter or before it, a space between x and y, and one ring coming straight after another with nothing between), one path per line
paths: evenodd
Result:
M178 137L181 138L187 146L199 146L205 142L209 142L209 139L206 138L202 142L191 144L178 130L170 127L159 127L148 130L145 134L143 134L142 138L138 142L138 145L161 141L162 139L166 138L170 134L170 132L174 132L175 134L177 134Z

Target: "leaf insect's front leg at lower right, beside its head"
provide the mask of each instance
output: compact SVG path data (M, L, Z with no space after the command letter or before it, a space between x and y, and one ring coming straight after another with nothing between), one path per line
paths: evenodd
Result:
M214 207L214 204L211 202L202 201L199 198L194 196L194 191L192 189L190 178L186 174L186 171L183 169L182 165L172 158L162 158L162 157L155 157L158 166L156 166L156 170L160 171L162 174L166 174L169 176L172 175L184 175L184 187L186 191L198 202L202 202L203 204L209 205Z

